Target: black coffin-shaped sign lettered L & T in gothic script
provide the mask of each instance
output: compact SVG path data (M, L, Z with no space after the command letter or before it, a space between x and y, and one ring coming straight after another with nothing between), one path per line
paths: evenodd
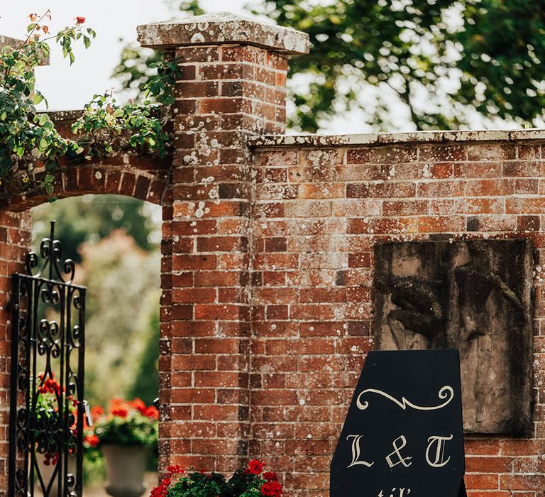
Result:
M373 351L331 461L331 497L462 497L457 350Z

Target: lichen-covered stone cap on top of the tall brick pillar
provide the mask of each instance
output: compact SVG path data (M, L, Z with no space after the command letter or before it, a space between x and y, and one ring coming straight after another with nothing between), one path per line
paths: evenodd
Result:
M187 45L240 43L287 54L309 53L309 35L229 12L138 26L143 47L165 50Z

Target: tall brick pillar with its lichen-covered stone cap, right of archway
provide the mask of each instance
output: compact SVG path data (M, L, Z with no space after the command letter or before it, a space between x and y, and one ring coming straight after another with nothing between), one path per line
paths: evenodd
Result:
M229 471L248 456L250 422L246 139L285 130L287 58L306 53L308 37L231 14L138 36L174 51L182 71L164 219L160 464Z

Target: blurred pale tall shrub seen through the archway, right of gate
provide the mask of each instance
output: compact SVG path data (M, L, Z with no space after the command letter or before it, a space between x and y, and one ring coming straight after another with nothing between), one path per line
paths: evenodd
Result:
M134 391L139 361L157 334L149 323L150 312L159 307L160 254L138 250L121 231L81 251L87 285L86 397L104 405ZM156 369L148 373L155 377Z

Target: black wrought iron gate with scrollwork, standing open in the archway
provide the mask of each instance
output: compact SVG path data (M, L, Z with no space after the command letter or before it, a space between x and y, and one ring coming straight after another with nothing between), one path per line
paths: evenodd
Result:
M40 256L13 275L9 496L81 496L85 288L55 222Z

